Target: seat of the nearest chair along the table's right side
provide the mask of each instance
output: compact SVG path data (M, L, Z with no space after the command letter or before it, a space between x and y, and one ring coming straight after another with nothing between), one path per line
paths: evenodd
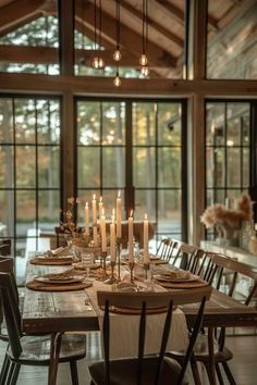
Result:
M224 362L229 361L233 358L232 351L230 351L227 347L223 350L219 350L219 344L215 339L213 340L213 353L216 362ZM197 361L209 362L209 349L208 349L208 336L206 334L199 334L197 336L194 355ZM170 351L169 357L173 359L181 360L185 356L185 351Z

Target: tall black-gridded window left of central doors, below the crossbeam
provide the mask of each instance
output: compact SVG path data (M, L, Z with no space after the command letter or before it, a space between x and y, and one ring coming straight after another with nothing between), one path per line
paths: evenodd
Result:
M0 97L0 237L24 256L60 218L60 101Z

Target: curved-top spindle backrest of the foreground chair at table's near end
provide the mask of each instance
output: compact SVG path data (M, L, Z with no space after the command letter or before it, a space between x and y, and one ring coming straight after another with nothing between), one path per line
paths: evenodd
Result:
M125 308L137 311L139 314L139 339L137 353L137 385L140 385L143 377L144 364L144 346L146 334L146 315L152 312L164 312L166 319L163 324L163 332L161 336L161 347L158 355L158 364L156 369L155 384L158 385L161 378L161 370L167 348L167 343L170 334L170 326L172 320L172 311L174 306L185 303L200 302L199 311L196 318L195 326L189 338L188 348L180 373L178 385L182 384L187 363L191 359L194 344L197 334L201 326L205 301L210 297L211 287L205 286L192 290L180 290L175 293L115 293L115 291L98 291L98 306L105 309L103 316L103 350L106 364L106 384L110 385L110 312L112 307ZM132 316L126 314L125 316Z

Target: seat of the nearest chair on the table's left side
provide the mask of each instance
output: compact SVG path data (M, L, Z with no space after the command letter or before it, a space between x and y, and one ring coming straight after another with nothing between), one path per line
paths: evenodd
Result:
M50 358L50 335L23 336L21 339L22 353L15 362L21 364L48 365ZM11 348L7 351L9 358L14 360ZM86 357L86 335L63 334L59 362L79 360Z

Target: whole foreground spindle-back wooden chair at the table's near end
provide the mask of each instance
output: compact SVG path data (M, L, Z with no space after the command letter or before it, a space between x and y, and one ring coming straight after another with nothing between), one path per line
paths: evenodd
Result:
M205 301L210 296L209 286L181 290L176 293L111 293L98 291L98 306L105 309L103 316L103 350L105 361L89 365L93 385L182 385L186 384L185 371L191 359L193 347L199 332ZM175 306L200 302L198 315L192 333L185 360L182 365L166 357L170 333L172 311ZM137 358L110 359L110 313L113 309L126 308L123 316L134 316L130 311L139 314L138 355ZM128 312L127 312L127 309ZM166 312L160 351L156 355L144 355L145 331L148 314Z

